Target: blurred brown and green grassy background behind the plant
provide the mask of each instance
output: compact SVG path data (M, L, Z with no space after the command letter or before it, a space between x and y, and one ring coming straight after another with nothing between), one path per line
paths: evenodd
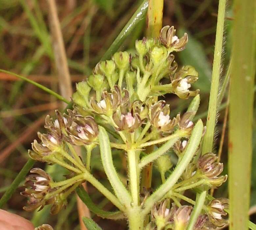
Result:
M0 68L26 76L42 85L60 92L62 84L57 77L54 61L51 30L49 28L49 9L45 0L1 0L0 1ZM73 90L75 83L83 81L95 64L120 33L127 21L141 4L141 0L57 0L58 16L61 23L64 45L68 60ZM217 0L165 0L163 25L174 25L179 36L187 32L187 48L176 55L179 65L189 64L199 72L199 80L194 84L201 91L201 105L196 119L206 119L211 68L214 53L218 1ZM119 50L134 52L134 42L145 35L146 20L142 19L125 40ZM230 61L230 31L232 29L232 2L227 6L225 25L225 48L223 50L223 76ZM227 90L228 91L228 90ZM28 159L27 150L37 138L37 131L43 129L46 114L53 115L55 109L63 104L34 85L20 81L16 77L0 73L0 197L8 189L20 169ZM69 98L67 98L69 100ZM176 96L166 97L171 106L171 114L186 110L189 100ZM221 149L224 173L227 173L227 135L226 104L224 97L220 106L217 124L218 138L216 152ZM226 111L226 112L225 112ZM206 124L206 122L205 122ZM227 133L227 132L226 132ZM253 165L256 164L256 127L254 124ZM123 156L114 152L115 165L122 167ZM102 172L97 152L92 156L92 170L96 177L107 183ZM62 168L54 168L36 163L34 167L47 168L55 179L65 174ZM256 168L252 167L251 218L256 212ZM153 172L153 185L160 183L160 176ZM24 190L20 184L12 198L4 206L25 218L32 219L35 225L51 224L54 229L79 229L76 196L72 195L65 210L57 216L49 215L49 208L40 212L27 213L22 210L26 198L19 195ZM95 203L105 210L113 206L90 184L88 192ZM214 196L227 197L227 183L222 185ZM126 222L92 218L103 229L125 229Z

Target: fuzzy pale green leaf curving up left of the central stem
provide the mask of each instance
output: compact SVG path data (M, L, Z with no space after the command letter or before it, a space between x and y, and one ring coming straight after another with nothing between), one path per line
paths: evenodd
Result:
M119 201L125 205L130 205L131 195L120 181L112 159L109 137L103 127L99 127L99 145L100 156L104 171L109 179L109 182L114 189L115 195Z

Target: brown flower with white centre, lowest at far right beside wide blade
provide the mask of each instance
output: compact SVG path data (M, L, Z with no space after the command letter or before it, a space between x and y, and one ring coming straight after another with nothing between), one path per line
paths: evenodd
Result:
M211 201L208 206L209 220L217 227L222 227L227 223L226 219L223 219L222 216L226 216L227 213L224 209L229 208L229 201L226 198L218 198Z

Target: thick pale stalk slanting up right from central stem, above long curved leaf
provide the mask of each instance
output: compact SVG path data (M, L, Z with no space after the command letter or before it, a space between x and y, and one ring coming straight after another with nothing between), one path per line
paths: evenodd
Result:
M144 166L146 166L147 164L149 164L150 162L153 162L154 160L156 160L158 157L162 156L163 154L166 153L166 151L168 151L179 139L180 137L177 135L171 135L172 139L167 141L164 145L162 145L159 149L155 150L154 152L144 156L138 167L140 169L142 169Z

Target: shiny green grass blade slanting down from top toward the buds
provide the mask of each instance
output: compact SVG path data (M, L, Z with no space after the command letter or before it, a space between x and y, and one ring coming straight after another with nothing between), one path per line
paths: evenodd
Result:
M144 17L148 7L148 1L144 0L137 11L133 14L130 20L127 22L125 27L122 29L120 34L115 38L115 41L111 44L109 49L103 55L101 60L108 60L111 56L118 50L123 41L127 38L127 36L133 31L138 22Z

